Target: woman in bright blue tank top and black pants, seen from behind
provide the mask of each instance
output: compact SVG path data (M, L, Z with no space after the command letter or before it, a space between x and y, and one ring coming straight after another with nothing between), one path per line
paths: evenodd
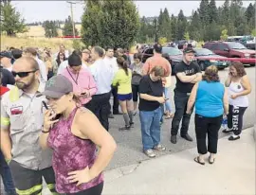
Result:
M223 115L229 113L228 91L220 83L216 66L210 65L203 75L203 80L194 84L186 111L188 115L192 114L193 104L195 104L194 123L198 151L194 161L205 165L204 156L209 151L209 163L213 164ZM208 146L206 137L208 137Z

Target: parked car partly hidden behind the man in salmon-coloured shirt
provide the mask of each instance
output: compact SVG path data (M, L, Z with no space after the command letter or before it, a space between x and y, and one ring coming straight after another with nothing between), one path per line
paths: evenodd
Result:
M153 48L146 48L142 52L142 62L146 62L148 58L153 56ZM163 46L163 56L172 64L172 74L174 75L174 67L182 61L182 52L175 47Z

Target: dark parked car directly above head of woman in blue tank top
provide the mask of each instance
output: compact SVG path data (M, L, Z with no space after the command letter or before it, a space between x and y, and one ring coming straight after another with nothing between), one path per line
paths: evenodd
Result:
M229 66L230 62L228 62L226 57L219 56L214 54L212 51L206 48L194 48L195 51L194 56L198 58L196 61L199 64L201 70L205 70L210 65L216 65L218 69L222 70ZM204 59L200 59L203 57ZM222 58L223 60L210 60L212 58Z

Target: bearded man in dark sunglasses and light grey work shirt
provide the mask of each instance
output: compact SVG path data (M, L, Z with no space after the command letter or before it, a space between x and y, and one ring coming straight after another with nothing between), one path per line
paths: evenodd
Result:
M31 57L23 57L13 64L16 86L1 102L1 150L9 162L17 194L41 194L42 181L52 193L55 191L51 151L42 151L38 140L42 131L45 97L40 84L39 64Z

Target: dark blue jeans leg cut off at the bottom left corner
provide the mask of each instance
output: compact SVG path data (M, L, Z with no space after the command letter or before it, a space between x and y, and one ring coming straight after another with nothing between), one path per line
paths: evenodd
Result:
M13 182L12 182L12 177L11 177L11 174L10 174L9 166L6 162L6 159L5 159L2 151L0 151L0 174L2 176L3 183L4 183L4 186L5 186L5 191L7 192L7 194L8 195L15 195L16 191L15 191L15 187L14 187Z

